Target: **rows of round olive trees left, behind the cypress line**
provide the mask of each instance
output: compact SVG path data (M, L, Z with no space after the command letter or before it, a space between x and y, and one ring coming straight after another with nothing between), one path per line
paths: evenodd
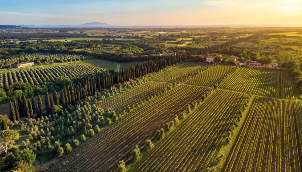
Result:
M35 68L14 72L0 73L0 88L8 88L16 82L30 83L31 86L45 82L55 82L57 77L74 79L88 73L105 72L103 68L86 65L61 65L50 68Z

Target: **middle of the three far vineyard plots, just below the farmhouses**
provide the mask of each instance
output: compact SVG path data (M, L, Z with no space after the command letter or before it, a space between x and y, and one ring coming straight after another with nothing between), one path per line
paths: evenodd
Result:
M200 85L200 86L213 86L220 79L226 78L230 72L234 71L236 66L230 65L215 65L214 67L202 72L195 76L193 79L186 82L186 84Z

